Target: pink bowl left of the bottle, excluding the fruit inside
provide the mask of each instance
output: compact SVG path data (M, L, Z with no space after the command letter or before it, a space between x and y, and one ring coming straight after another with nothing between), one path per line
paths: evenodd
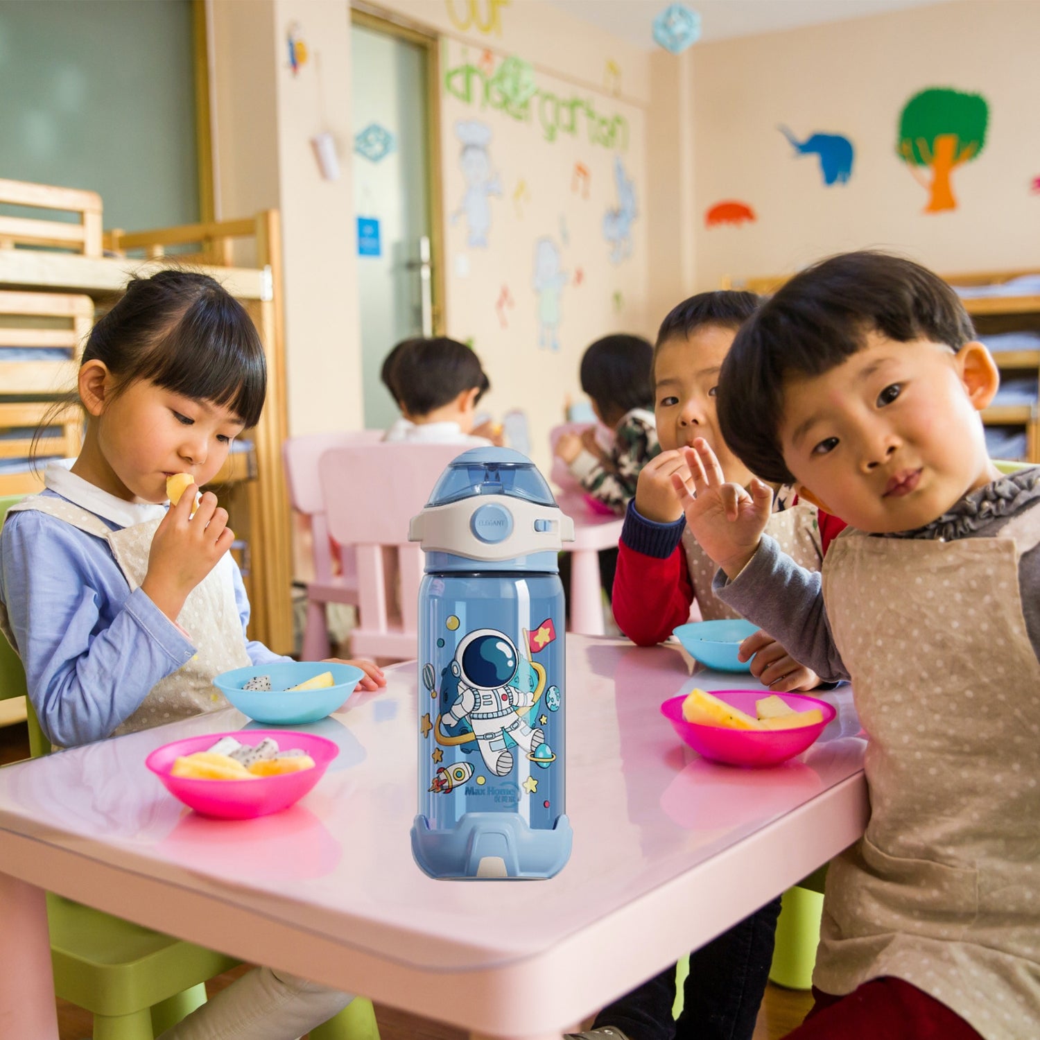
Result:
M283 773L255 780L188 780L171 776L180 755L208 751L222 736L233 736L239 744L259 744L265 736L278 742L282 751L298 748L314 759L314 769ZM163 786L186 806L206 816L225 820L253 820L286 809L304 797L321 779L329 763L339 754L332 740L311 733L292 733L282 729L244 729L234 733L206 733L186 740L156 748L145 764L162 781Z

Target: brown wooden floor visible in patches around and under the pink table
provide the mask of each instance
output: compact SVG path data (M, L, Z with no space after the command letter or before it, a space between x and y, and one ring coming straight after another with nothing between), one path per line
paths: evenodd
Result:
M24 724L0 728L0 765L27 758L28 755L29 738ZM211 980L207 987L210 995L230 985L245 970L244 966L235 968ZM781 989L771 983L758 1013L754 1040L780 1040L801 1023L811 1006L809 993ZM462 1030L382 1005L375 1006L375 1017L381 1040L467 1040L467 1034ZM59 1040L88 1040L92 1028L87 1012L66 1000L58 1000Z

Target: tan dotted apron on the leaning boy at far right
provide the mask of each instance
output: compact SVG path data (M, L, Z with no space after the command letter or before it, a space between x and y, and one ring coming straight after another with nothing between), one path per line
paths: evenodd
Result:
M824 567L872 813L828 872L813 983L894 976L987 1040L1040 1037L1040 664L1018 587L1037 544L1034 506L992 538L849 530Z

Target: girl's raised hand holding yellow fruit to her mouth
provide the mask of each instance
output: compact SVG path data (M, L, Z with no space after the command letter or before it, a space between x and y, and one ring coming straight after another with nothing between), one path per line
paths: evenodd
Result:
M228 526L228 512L216 504L212 492L202 496L191 516L197 490L194 485L187 488L156 528L148 554L148 573L140 586L171 621L177 620L188 593L235 540Z

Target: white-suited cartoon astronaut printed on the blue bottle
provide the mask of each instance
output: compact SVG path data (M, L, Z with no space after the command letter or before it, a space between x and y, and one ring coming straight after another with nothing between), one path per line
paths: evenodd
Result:
M513 752L509 740L536 754L545 744L541 728L531 728L517 709L535 703L532 691L512 685L520 666L513 641L494 628L478 628L467 633L459 643L450 671L458 681L458 697L441 716L445 728L464 719L469 722L484 764L495 776L513 771Z

